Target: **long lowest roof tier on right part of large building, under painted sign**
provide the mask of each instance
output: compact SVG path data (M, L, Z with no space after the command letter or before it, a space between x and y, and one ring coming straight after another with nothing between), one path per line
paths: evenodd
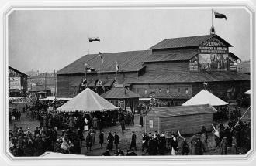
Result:
M250 76L232 71L146 73L137 80L126 80L126 83L196 83L237 80L250 80Z

